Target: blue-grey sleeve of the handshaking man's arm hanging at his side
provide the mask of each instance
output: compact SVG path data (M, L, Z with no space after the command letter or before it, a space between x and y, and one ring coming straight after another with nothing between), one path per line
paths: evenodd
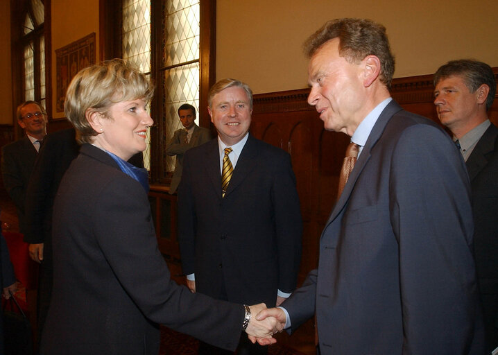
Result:
M399 244L403 354L466 354L478 319L465 164L445 132L404 130L394 148L390 219Z

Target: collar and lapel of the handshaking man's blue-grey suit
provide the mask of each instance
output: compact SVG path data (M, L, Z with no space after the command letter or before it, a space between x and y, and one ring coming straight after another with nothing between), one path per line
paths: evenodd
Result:
M341 213L341 211L345 207L347 200L349 200L350 198L354 184L356 184L358 177L361 174L361 171L363 171L363 168L370 159L370 151L372 150L373 146L377 144L377 141L382 135L382 132L384 132L384 129L386 128L386 125L390 121L391 117L393 117L393 115L396 112L399 112L400 110L402 110L402 107L393 100L390 101L390 103L388 103L384 111L381 112L379 119L377 119L377 122L375 122L375 125L373 126L372 131L368 136L368 139L366 141L365 146L363 147L363 150L361 150L361 155L358 158L357 163L354 164L354 169L351 172L350 178L347 180L345 184L341 197L334 206L334 209L332 209L332 214L330 214L329 220L327 221L327 225L332 223L332 221L334 221L334 219ZM327 225L325 227L327 227Z

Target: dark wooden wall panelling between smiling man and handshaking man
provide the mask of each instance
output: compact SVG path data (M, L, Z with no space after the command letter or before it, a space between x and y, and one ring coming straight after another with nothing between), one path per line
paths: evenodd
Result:
M307 104L308 92L255 95L250 128L256 138L291 155L303 220L300 282L317 266L318 241L336 199L338 175L349 144L346 135L323 129L318 113Z

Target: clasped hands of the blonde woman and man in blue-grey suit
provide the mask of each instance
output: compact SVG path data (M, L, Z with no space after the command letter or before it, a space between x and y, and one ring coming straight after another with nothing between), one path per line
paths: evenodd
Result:
M260 303L249 306L250 320L246 328L246 333L252 343L259 345L271 345L277 343L273 338L284 329L286 322L285 312L280 308L266 308L266 304Z

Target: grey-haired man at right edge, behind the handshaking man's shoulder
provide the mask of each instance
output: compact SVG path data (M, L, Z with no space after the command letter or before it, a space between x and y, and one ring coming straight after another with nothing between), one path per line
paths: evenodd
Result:
M452 60L434 74L436 110L465 159L472 187L474 258L488 354L498 347L498 128L488 119L496 93L491 67Z

